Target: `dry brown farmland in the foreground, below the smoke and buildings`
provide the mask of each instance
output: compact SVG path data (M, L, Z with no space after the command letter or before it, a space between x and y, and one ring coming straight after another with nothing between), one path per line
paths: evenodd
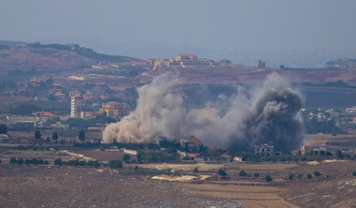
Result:
M354 160L105 165L123 155L3 146L0 207L352 207L356 203ZM11 158L42 158L49 165L10 164ZM55 166L56 158L91 158L101 166ZM226 176L218 173L220 169Z

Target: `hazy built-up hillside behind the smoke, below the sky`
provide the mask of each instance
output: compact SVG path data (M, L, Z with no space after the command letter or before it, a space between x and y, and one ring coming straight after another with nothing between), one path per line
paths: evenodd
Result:
M229 86L228 91L235 90L236 84L260 83L268 74L279 73L291 82L306 86L308 100L320 96L322 91L325 99L321 97L317 101L325 101L330 92L337 92L334 100L338 102L356 95L356 66L352 63L342 59L315 69L236 65L228 60L218 62L205 58L180 63L174 58L142 60L105 55L77 44L3 41L0 42L0 75L3 78L0 80L0 104L52 101L58 106L69 103L69 91L79 90L88 95L88 105L120 100L135 106L135 88L167 72L174 72L180 78L182 89L192 91L201 89L199 85L212 86L216 89L214 95L226 94L226 86ZM320 105L320 102L314 103ZM352 103L350 100L344 105Z

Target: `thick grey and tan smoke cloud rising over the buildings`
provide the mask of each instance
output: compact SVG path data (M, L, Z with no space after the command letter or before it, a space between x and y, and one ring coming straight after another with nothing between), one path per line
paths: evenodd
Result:
M236 95L220 95L194 109L183 107L178 80L171 76L161 75L138 89L135 111L105 128L104 143L146 143L159 135L196 135L206 145L232 150L268 143L289 151L302 143L301 98L277 73L252 92L240 88Z

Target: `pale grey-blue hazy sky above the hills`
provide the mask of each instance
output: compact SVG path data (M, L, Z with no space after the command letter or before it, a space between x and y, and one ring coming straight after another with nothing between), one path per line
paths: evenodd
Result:
M1 0L0 40L355 50L355 10L354 0Z

